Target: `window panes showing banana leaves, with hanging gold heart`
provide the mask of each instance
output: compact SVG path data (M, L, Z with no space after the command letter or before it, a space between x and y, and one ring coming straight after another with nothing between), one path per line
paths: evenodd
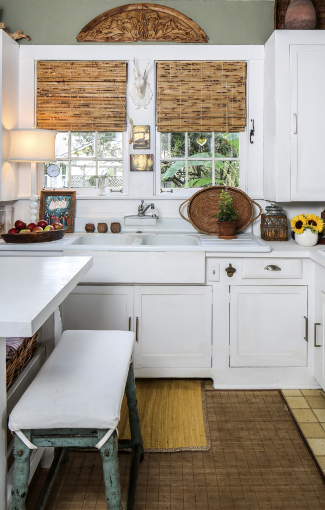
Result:
M160 133L161 188L239 187L239 133Z

